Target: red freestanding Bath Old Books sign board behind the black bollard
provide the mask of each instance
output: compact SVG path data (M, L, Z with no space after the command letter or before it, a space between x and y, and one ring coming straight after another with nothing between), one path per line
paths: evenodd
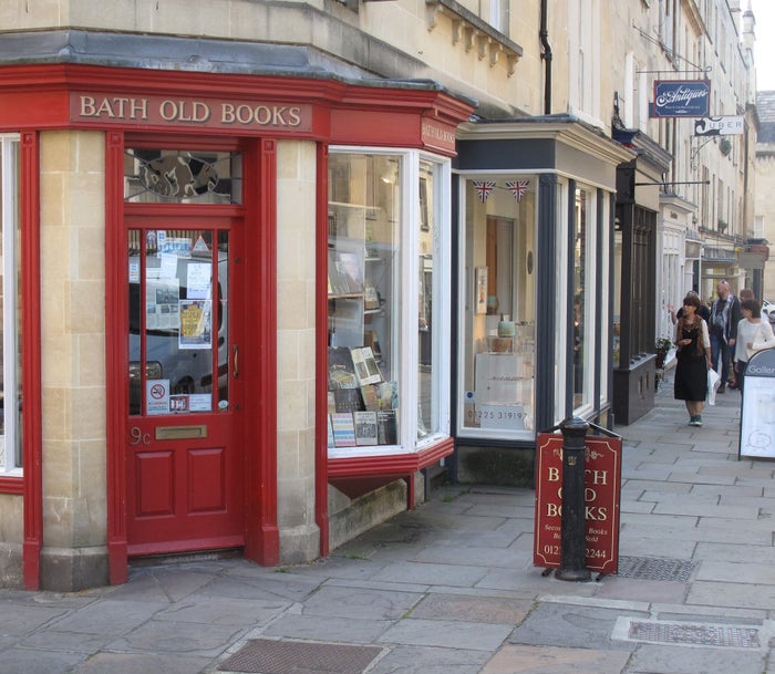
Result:
M562 527L562 435L539 433L536 468L536 567L560 566ZM585 438L586 566L616 573L619 568L621 438Z

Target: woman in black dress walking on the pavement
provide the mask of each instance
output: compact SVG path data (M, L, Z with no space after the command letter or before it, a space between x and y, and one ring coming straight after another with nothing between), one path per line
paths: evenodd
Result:
M698 315L700 305L698 295L688 294L675 325L675 400L685 401L690 426L702 426L711 367L711 338L707 323Z

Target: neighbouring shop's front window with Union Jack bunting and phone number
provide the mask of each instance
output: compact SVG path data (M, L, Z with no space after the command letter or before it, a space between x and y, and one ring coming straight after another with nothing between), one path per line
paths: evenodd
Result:
M533 437L536 179L469 179L465 188L462 435Z

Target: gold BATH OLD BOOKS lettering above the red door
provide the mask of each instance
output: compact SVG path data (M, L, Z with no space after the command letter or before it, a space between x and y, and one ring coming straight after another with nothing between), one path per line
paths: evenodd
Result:
M280 126L293 128L302 124L301 107L288 105L254 105L247 103L149 98L80 96L82 118L148 122L157 116L163 122L178 124L225 124L241 126Z

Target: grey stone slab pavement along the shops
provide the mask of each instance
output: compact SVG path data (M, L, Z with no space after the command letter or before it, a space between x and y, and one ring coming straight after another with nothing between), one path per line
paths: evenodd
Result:
M740 400L690 427L668 381L616 428L617 576L544 577L533 490L451 486L311 564L0 590L0 673L775 674L775 463L737 459Z

